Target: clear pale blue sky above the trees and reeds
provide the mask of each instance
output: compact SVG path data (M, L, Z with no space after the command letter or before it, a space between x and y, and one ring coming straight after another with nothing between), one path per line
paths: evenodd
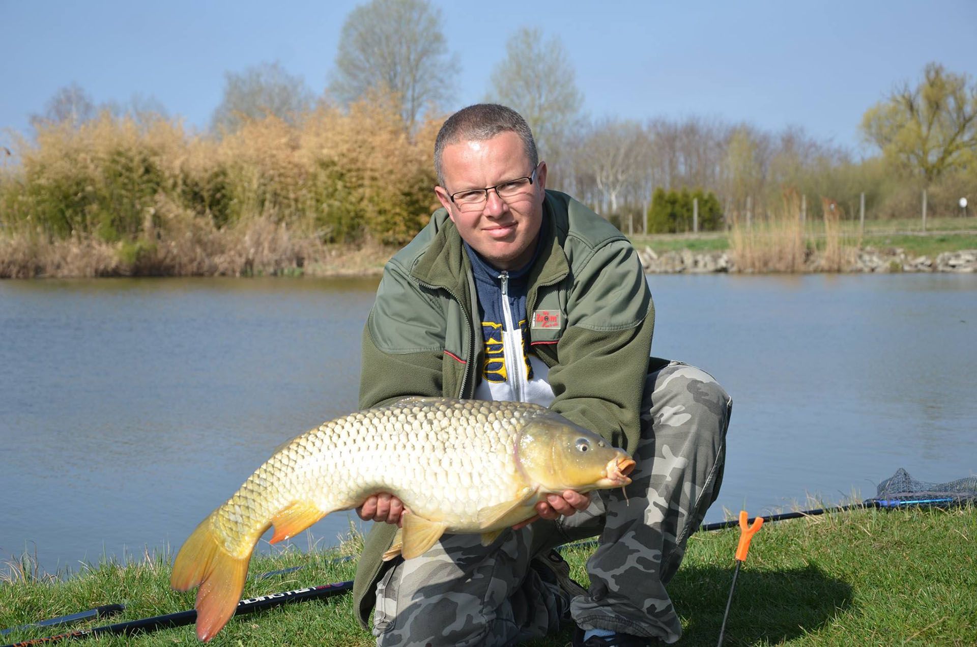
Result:
M72 82L96 104L152 98L201 129L226 71L277 61L319 94L357 4L0 0L0 144ZM432 4L461 67L448 110L485 99L522 26L562 40L591 117L800 126L859 154L872 152L863 113L927 63L977 77L975 0Z

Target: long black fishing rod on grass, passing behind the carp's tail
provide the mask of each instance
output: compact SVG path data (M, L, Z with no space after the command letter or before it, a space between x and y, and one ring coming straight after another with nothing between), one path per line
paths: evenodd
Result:
M295 590L246 598L237 603L237 608L234 610L234 616L241 616L244 614L253 613L255 611L261 611L262 609L269 609L290 602L305 602L306 600L317 600L332 597L333 595L341 595L342 593L352 589L353 582L336 582L334 584L321 584L319 586L296 588ZM58 635L47 636L44 638L22 640L21 642L4 645L3 647L29 647L30 645L46 645L52 642L58 642L60 640L67 640L70 638L85 638L88 636L105 634L129 635L132 633L139 633L141 631L155 631L156 629L167 629L174 626L192 625L195 622L196 610L191 609L190 611L179 611L177 613L166 614L164 616L153 616L152 618L143 618L141 620L134 620L128 623L96 626L90 629L78 629L77 631L68 631L67 633L60 633Z

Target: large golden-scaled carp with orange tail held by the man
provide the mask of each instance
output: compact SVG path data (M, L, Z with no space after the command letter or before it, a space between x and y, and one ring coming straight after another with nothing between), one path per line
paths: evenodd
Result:
M407 398L323 423L282 446L180 549L170 583L199 585L196 634L227 624L251 551L275 526L272 543L367 496L400 497L404 559L445 533L479 533L488 545L533 516L549 493L627 485L627 453L537 405Z

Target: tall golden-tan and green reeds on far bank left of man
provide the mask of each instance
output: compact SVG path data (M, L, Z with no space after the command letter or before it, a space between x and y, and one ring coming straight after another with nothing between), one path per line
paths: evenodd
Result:
M439 125L408 134L374 98L221 138L108 113L42 127L0 172L0 277L334 274L351 248L382 265L435 206Z

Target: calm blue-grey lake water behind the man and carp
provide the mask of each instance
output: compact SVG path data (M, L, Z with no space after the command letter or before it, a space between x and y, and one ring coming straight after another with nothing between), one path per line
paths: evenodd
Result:
M651 276L653 352L734 398L723 508L977 473L977 276ZM355 410L376 280L0 282L0 559L176 548ZM313 527L323 544L352 513ZM300 546L308 538L298 538Z

